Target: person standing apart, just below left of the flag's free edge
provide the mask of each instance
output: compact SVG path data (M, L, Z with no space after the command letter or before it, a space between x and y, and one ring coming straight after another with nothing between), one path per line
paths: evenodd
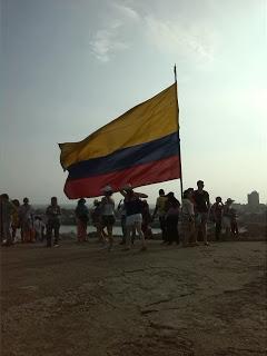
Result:
M59 229L60 229L60 216L61 209L58 205L58 198L51 198L51 205L47 208L47 247L59 247Z

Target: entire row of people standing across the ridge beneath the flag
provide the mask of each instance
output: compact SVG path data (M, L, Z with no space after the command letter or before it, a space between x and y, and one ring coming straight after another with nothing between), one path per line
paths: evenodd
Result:
M215 226L216 240L220 239L221 230L226 236L238 235L237 214L233 208L234 200L228 198L225 204L220 197L210 204L209 194L204 190L204 181L197 181L197 189L188 188L184 191L181 204L172 191L165 194L159 190L156 207L150 214L147 202L148 196L134 190L128 184L120 194L122 199L116 208L111 186L103 188L100 200L93 200L93 209L89 210L86 199L78 200L75 209L77 221L77 241L88 240L88 224L91 220L96 227L99 243L108 250L113 248L113 226L116 217L120 216L123 250L131 249L137 236L141 243L141 250L147 249L147 240L152 238L151 222L158 218L164 245L177 244L184 247L197 246L202 240L207 246L207 224ZM59 246L61 209L57 197L46 209L44 219L34 215L34 210L24 198L20 205L18 199L10 200L7 194L0 196L0 234L1 244L12 246L17 231L20 230L21 243L44 241L47 247Z

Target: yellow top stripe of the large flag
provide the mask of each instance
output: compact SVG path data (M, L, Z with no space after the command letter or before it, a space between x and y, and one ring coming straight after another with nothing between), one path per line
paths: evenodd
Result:
M176 83L134 107L80 142L60 144L63 168L118 149L149 142L178 130Z

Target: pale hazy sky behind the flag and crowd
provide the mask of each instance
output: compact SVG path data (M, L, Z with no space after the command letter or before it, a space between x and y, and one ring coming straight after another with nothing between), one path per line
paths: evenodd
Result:
M174 82L184 187L267 202L266 0L2 0L0 191L67 202L57 142ZM179 180L159 187L179 197ZM119 198L119 195L116 195Z

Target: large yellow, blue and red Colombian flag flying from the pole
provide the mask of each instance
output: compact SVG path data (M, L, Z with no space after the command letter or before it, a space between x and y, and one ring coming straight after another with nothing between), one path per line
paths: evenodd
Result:
M177 82L80 142L60 144L68 198L98 197L110 185L140 187L180 178Z

